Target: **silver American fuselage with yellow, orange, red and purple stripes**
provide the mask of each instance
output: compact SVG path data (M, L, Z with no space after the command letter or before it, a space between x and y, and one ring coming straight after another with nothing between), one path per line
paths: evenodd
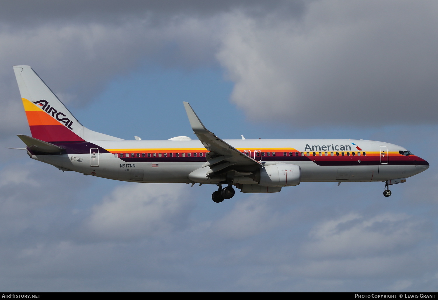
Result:
M428 168L427 162L415 155L399 154L405 148L376 141L245 139L226 142L257 161L298 165L301 182L386 181L410 177ZM71 147L70 144L64 146L67 150ZM208 151L199 140L116 140L84 142L70 152L76 153L31 154L31 157L64 171L108 179L188 183L193 182L189 174L205 164Z

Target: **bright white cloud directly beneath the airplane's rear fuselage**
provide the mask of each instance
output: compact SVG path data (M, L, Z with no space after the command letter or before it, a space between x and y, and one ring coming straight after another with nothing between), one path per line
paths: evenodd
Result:
M159 237L184 229L193 200L184 184L128 184L92 209L85 230L101 239Z

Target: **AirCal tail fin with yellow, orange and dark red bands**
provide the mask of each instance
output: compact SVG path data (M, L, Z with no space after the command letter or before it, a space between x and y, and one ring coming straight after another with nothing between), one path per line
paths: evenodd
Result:
M32 137L46 142L119 139L85 128L30 66L14 66Z

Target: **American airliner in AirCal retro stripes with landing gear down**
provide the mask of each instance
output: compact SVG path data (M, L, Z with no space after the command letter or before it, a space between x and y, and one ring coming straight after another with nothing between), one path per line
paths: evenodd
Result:
M32 136L18 135L32 159L62 171L147 183L211 184L216 203L243 193L277 193L300 182L385 182L389 186L429 168L401 146L352 139L223 140L184 107L198 140L124 140L92 131L74 118L30 66L14 66ZM225 185L225 187L223 187Z

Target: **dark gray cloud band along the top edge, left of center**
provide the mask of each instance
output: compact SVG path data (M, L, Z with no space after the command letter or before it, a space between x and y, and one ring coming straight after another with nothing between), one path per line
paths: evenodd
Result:
M215 14L227 13L236 9L257 16L271 12L298 16L304 10L306 1L302 0L74 0L61 3L56 0L17 0L1 5L0 19L6 26L27 27L35 24L64 23L69 21L105 24L124 23L128 18L154 18L162 24L175 16L210 18ZM309 2L309 1L307 1Z

